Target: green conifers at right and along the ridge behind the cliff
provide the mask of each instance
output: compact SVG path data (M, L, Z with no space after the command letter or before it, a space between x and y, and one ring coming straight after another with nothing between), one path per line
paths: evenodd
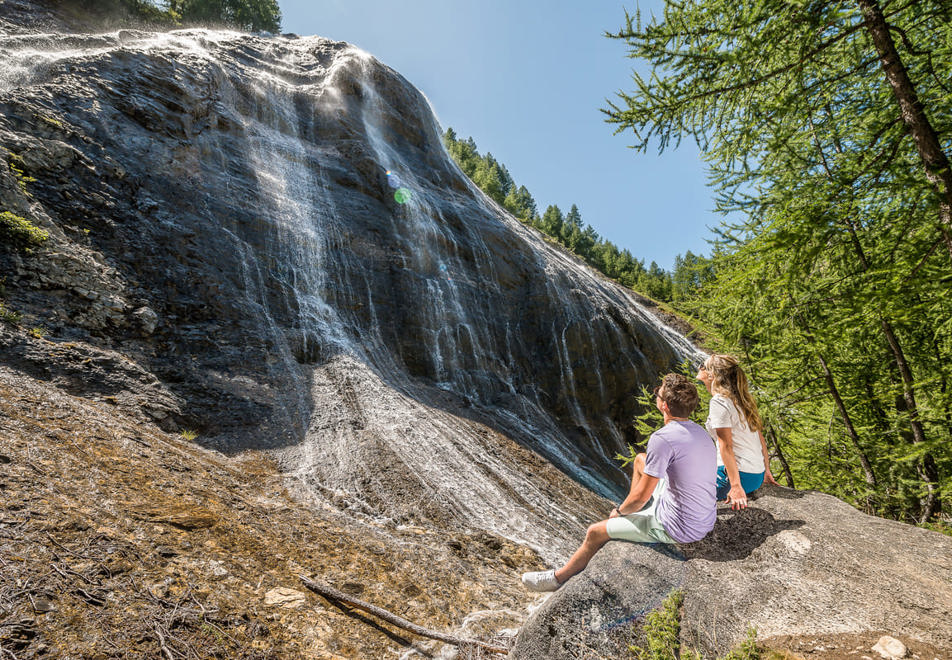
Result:
M497 202L738 355L797 487L943 526L952 512L952 5L693 0L607 35L647 62L604 111L641 151L693 140L729 217L709 257L645 268L541 216L472 139ZM945 526L948 523L944 523Z

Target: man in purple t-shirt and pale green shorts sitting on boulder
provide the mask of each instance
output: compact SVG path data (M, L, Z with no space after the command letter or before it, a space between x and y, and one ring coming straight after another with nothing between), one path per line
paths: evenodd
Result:
M688 417L698 404L697 387L680 374L668 374L655 389L664 426L651 434L644 454L635 457L631 490L608 520L588 528L585 541L564 566L525 573L530 591L555 591L580 573L610 539L635 543L691 543L714 527L717 517L717 452L711 436ZM654 495L654 502L646 506Z

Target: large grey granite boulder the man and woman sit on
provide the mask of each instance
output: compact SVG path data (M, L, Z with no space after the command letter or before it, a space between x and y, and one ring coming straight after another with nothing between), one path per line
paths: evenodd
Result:
M889 631L952 652L952 538L815 491L761 489L694 544L613 541L520 631L511 657L620 657L684 594L681 641L705 658L759 638Z

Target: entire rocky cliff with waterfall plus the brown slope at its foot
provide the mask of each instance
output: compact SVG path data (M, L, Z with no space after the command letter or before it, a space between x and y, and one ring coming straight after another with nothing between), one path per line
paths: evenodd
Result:
M691 346L474 189L367 54L59 4L0 2L0 212L49 235L0 228L0 649L432 649L300 573L517 627Z

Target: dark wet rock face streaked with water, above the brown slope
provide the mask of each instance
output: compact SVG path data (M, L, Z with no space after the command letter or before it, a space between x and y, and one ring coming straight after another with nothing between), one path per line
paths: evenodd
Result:
M51 235L0 246L9 304L154 374L179 403L157 421L279 450L381 515L485 515L510 537L527 508L594 505L486 459L485 429L626 486L632 395L692 348L475 190L396 72L343 43L204 30L0 49L0 202ZM476 476L447 477L457 463ZM496 497L515 504L472 504Z

